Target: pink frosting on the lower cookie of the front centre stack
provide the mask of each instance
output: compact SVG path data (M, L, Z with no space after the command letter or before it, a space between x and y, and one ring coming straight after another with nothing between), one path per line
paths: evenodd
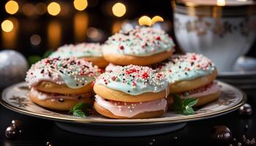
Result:
M96 95L95 101L99 106L109 110L113 115L132 118L142 112L153 112L158 110L167 110L166 99L158 99L154 101L128 103L119 101L106 101L101 96Z

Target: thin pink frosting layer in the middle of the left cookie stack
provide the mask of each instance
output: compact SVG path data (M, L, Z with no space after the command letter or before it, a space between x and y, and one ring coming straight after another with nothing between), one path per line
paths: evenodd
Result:
M46 99L76 99L80 100L86 96L86 93L83 94L59 94L59 93L45 93L41 91L37 91L35 88L31 88L31 95L37 97L39 100Z

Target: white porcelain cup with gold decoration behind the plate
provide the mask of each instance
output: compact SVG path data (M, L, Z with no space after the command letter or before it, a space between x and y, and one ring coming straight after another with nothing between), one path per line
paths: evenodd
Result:
M232 1L231 1L232 2ZM248 52L256 36L256 7L251 3L173 3L174 31L184 52L201 53L220 72L231 71L236 59ZM215 3L217 4L217 3Z

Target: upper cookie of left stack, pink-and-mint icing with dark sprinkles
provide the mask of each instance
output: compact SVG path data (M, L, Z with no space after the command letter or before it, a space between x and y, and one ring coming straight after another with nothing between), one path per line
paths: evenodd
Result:
M84 88L90 87L100 72L102 69L83 59L45 58L31 66L26 74L26 82L29 87L45 92L84 93L89 91Z

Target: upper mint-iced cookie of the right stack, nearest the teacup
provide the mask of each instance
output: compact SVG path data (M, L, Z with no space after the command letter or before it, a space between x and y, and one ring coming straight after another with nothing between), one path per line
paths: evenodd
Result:
M170 93L199 88L213 82L217 77L214 63L205 56L195 53L173 55L157 70L166 75Z

